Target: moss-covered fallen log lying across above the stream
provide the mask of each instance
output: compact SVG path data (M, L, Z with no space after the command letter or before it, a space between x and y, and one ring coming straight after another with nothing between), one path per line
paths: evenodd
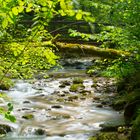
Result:
M129 52L108 48L99 48L93 45L56 42L56 46L58 47L60 52L65 54L78 54L80 56L91 55L105 58L118 58L122 56L130 56Z

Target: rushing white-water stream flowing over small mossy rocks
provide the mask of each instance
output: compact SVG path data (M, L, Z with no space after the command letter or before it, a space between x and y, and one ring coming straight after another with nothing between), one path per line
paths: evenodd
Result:
M88 140L99 132L100 124L122 120L123 115L110 107L110 99L116 94L115 81L85 74L92 59L63 60L63 68L50 71L48 79L15 79L15 86L4 91L9 99L0 101L0 106L11 102L17 121L12 123L0 116L1 124L13 128L0 139ZM74 92L70 87L75 78L83 79L84 88Z

